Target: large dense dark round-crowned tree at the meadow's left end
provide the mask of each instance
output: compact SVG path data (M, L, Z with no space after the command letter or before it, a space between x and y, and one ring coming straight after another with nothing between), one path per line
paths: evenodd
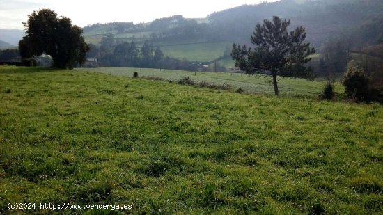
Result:
M72 69L85 62L89 50L82 29L72 25L68 17L57 17L53 10L33 11L24 22L26 36L19 42L22 58L47 54L52 56L54 67Z

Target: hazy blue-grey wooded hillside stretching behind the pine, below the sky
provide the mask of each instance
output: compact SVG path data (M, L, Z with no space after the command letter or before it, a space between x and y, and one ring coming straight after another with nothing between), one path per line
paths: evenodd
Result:
M109 34L114 35L116 43L134 40L142 45L144 40L151 40L166 56L208 62L223 56L233 42L249 44L257 22L273 15L290 19L291 28L306 27L308 42L319 50L334 35L343 35L353 41L352 45L376 45L383 38L377 25L383 17L381 0L281 0L239 6L212 13L205 19L175 15L145 24L93 24L84 28L84 36L95 45L100 45ZM363 36L352 38L352 35Z

